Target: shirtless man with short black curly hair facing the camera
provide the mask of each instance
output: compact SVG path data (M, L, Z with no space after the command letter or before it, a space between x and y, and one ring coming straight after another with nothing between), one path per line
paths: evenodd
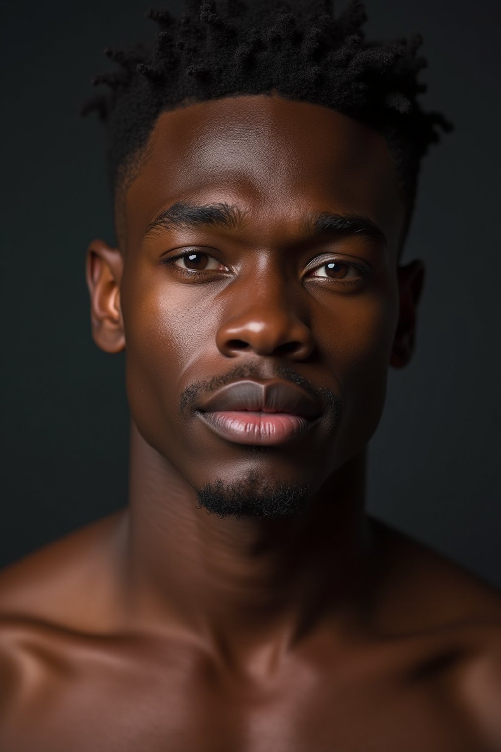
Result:
M128 507L3 573L0 749L501 750L499 594L364 511L415 338L419 160L449 127L416 102L420 40L365 41L358 2L151 15L92 103Z

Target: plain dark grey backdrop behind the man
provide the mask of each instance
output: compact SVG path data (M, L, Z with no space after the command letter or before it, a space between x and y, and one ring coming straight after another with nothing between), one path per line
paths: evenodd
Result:
M456 126L422 168L403 259L427 264L418 346L390 374L369 509L501 587L499 4L366 7L370 36L424 35L424 105ZM126 502L125 354L93 343L84 280L86 244L113 241L101 127L77 108L104 47L150 37L146 8L2 8L0 564Z

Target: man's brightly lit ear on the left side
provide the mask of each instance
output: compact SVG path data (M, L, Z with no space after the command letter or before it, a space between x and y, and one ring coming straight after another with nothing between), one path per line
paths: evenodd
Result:
M94 240L87 248L85 271L90 295L92 337L104 352L119 353L125 350L120 308L122 253L102 240Z

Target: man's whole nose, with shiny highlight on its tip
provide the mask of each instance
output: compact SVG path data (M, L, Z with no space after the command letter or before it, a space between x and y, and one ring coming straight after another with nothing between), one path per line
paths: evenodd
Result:
M282 271L264 263L237 282L216 335L222 353L279 351L298 359L309 355L313 341L306 307L300 285L284 273L287 268L285 263Z

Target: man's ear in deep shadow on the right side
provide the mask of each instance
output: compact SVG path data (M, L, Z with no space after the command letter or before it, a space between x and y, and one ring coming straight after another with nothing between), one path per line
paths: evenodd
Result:
M390 363L403 368L412 358L415 343L416 311L424 285L424 264L412 261L397 269L400 290L400 310Z

